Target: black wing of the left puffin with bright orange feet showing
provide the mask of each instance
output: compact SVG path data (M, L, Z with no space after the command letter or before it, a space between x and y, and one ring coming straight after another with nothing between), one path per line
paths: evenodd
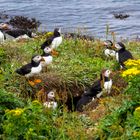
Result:
M22 66L20 69L16 70L16 73L20 74L20 75L25 75L31 72L31 64L27 64Z

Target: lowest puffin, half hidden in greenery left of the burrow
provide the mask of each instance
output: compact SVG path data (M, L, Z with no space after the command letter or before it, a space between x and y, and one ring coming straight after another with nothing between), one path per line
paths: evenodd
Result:
M47 94L47 101L43 103L43 105L47 108L52 108L52 109L56 109L58 104L57 102L55 101L55 93L54 91L50 91L48 94Z

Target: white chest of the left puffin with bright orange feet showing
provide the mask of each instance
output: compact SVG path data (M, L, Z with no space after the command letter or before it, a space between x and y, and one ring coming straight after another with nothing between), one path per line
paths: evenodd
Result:
M42 70L42 66L41 64L38 65L38 67L32 67L31 68L31 72L26 74L25 76L26 77L31 77L31 76L34 76L35 74L39 74Z

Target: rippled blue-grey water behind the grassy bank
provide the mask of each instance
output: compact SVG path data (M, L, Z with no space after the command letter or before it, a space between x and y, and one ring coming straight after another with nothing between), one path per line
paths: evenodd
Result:
M106 25L117 36L140 35L140 0L0 0L0 11L7 14L35 17L42 22L40 30L82 32L104 37ZM125 20L113 13L127 13Z

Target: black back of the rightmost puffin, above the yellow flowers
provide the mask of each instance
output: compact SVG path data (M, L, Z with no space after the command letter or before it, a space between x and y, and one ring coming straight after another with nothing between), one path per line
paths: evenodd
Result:
M119 53L119 63L123 67L125 66L124 64L125 61L127 61L128 59L133 59L132 54L128 50L121 49L118 51L118 53Z

